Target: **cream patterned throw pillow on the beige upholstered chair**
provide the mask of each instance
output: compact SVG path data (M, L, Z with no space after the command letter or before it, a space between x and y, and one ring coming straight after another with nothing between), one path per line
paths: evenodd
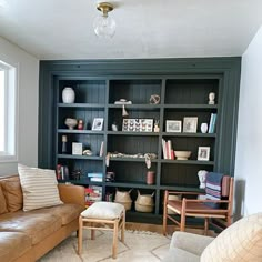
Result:
M205 248L200 261L262 261L262 213L245 216L220 233Z

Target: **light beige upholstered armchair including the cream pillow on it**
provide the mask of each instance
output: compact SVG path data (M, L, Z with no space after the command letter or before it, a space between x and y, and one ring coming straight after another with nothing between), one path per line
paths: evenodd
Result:
M262 212L245 216L215 239L173 233L164 262L262 262Z

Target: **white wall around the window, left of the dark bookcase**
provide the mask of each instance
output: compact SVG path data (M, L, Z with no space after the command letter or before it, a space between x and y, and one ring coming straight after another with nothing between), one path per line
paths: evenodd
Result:
M0 37L0 60L19 64L18 162L38 164L39 60ZM17 173L17 162L0 162L0 175Z

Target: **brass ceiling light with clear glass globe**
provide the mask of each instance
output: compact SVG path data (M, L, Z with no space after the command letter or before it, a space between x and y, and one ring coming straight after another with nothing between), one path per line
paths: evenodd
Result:
M98 10L102 12L93 21L93 29L98 37L112 38L115 32L115 21L108 16L113 10L113 4L109 2L100 2L97 6Z

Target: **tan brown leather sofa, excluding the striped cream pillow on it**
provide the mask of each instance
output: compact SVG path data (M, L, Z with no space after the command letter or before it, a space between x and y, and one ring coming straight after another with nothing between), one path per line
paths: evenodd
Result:
M37 261L78 231L84 188L58 187L64 204L24 212L19 177L0 179L0 261Z

